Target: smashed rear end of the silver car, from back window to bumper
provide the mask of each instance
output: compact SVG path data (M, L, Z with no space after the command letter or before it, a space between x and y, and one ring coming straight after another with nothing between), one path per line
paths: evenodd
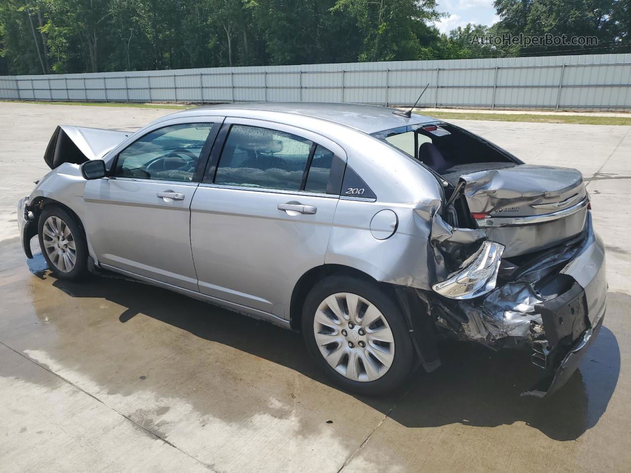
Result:
M529 351L540 378L523 395L555 392L597 336L606 305L604 245L581 173L525 165L449 124L380 138L444 187L430 245L446 276L416 289L437 334Z

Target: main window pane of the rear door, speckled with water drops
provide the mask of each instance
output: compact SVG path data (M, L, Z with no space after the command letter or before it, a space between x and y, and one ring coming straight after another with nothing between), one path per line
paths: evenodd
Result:
M291 133L233 125L221 151L215 184L300 190L312 145Z

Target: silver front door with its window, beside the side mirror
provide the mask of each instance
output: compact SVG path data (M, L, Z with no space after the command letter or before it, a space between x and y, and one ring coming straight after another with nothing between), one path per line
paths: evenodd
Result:
M198 290L190 207L213 127L155 129L119 153L109 178L88 181L86 231L103 267Z

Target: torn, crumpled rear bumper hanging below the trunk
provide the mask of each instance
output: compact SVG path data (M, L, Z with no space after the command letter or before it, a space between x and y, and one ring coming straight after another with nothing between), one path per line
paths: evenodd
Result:
M493 349L532 350L540 378L524 395L543 397L567 382L603 323L608 289L604 245L594 233L590 211L585 220L579 236L512 272L514 263L508 259L503 282L489 293L469 300L439 295L431 301L437 325L460 339Z

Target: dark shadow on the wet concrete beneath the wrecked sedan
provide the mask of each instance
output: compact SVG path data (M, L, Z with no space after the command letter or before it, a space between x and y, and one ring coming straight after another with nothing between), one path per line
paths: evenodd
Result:
M47 276L54 278L52 274ZM52 286L75 298L102 298L123 307L121 324L143 314L338 389L319 373L299 334L136 281L118 277L90 279L83 284L57 279ZM610 296L629 300L611 301L610 297L609 312L623 310L631 302L626 295ZM387 399L355 397L384 414L389 412L391 419L409 428L452 423L487 427L526 423L554 440L567 441L575 440L598 423L620 372L618 342L605 326L579 370L557 393L545 399L520 396L538 375L538 368L529 363L529 353L493 352L464 342L442 342L440 352L439 369L433 373L418 370Z

